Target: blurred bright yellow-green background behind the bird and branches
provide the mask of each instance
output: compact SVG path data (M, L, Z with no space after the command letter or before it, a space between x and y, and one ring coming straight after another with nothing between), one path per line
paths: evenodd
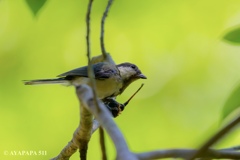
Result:
M91 49L101 53L100 19L106 0L94 1ZM132 62L148 77L118 101L143 89L115 119L132 151L195 148L220 127L222 106L240 80L240 48L222 41L240 24L238 0L116 0L106 22L106 49L117 63ZM56 156L79 121L73 87L24 86L87 64L87 1L49 0L35 17L26 1L0 0L0 159ZM98 132L89 159L100 159ZM235 131L216 147L239 144ZM115 157L107 138L109 159ZM4 151L47 151L10 156ZM76 153L72 160L78 159Z

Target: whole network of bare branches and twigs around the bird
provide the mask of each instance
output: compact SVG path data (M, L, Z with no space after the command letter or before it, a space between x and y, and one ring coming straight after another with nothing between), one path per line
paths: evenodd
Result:
M101 20L101 34L100 34L100 44L102 55L93 57L91 59L91 48L90 48L90 14L92 9L93 0L89 0L87 14L86 14L86 26L87 26L87 58L88 58L88 76L90 79L90 86L82 85L76 87L76 94L80 102L80 122L78 128L73 134L72 140L64 147L61 153L53 158L52 160L68 160L72 154L76 152L79 148L81 160L87 159L87 149L88 142L91 138L92 133L96 131L100 124L105 128L107 133L110 135L115 148L117 150L117 159L118 160L145 160L145 159L156 159L156 158L231 158L231 159L240 159L240 152L236 152L233 149L222 149L222 150L213 150L209 149L214 143L216 143L222 136L224 136L229 130L231 130L236 124L240 122L240 117L234 120L232 123L220 130L215 136L213 136L207 143L205 143L199 150L193 149L171 149L171 150L157 150L152 152L137 153L134 154L129 151L126 141L112 120L112 115L106 109L104 104L97 99L95 92L95 80L92 64L98 62L110 62L115 64L110 54L107 53L104 45L104 25L105 20L108 15L109 9L111 7L113 0L109 0L107 7L103 13ZM93 115L95 115L97 120L93 120ZM99 121L99 122L98 122ZM106 158L106 150L104 145L104 135L103 130L100 129L100 141L101 148L103 153L103 159ZM234 148L236 149L236 147ZM239 149L239 147L237 148Z

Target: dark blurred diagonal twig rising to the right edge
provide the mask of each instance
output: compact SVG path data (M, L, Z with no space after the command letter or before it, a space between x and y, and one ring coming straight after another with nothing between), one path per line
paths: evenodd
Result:
M208 150L214 143L216 143L220 138L225 136L233 127L240 123L240 116L230 122L228 125L223 127L219 132L217 132L213 137L211 137L193 156L189 159L195 159L200 157L204 152Z

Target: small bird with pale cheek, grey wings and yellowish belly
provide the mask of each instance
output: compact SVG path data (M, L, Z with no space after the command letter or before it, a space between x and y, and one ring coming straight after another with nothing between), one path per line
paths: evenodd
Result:
M120 95L132 82L138 79L147 79L135 64L121 63L113 65L108 62L99 62L92 65L96 80L97 97L116 97ZM88 84L88 66L76 68L58 75L55 79L37 79L24 81L25 85L36 84L63 84L78 86Z

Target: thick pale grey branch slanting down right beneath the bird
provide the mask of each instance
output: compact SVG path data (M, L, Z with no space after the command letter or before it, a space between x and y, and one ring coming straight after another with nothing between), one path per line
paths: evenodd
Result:
M81 85L76 89L79 100L92 114L94 114L101 126L105 128L106 132L111 137L117 150L117 159L137 160L137 157L129 151L122 133L112 119L112 115L100 100L98 101L100 112L98 112L98 109L93 102L93 93L90 87L87 85Z

